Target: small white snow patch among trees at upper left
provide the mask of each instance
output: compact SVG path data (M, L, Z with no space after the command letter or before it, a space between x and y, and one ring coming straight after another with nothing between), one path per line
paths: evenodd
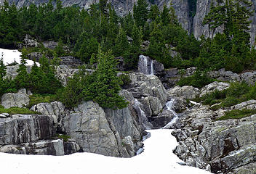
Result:
M8 65L12 62L17 62L20 64L20 55L21 52L17 51L17 49L0 49L0 58L3 56L4 58L4 65ZM29 59L25 59L27 62L26 65L33 65L33 61ZM39 65L38 62L36 62L37 65Z

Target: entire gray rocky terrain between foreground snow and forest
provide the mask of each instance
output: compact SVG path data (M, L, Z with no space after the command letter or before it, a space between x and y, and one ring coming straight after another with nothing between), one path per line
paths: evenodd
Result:
M179 145L174 153L186 165L212 173L255 173L256 115L237 120L217 118L233 109L256 109L256 101L244 101L215 111L188 101L215 90L223 91L230 87L231 81L254 84L256 72L209 72L213 78L226 82L194 88L175 86L182 76L176 69L164 70L159 62L145 56L140 57L140 64L147 68L129 73L131 82L120 91L120 95L129 101L124 109L103 109L93 101L68 109L60 101L53 101L33 105L31 110L38 114L1 113L0 152L51 155L93 152L133 157L141 151L138 150L147 136L145 129L162 128L177 116L177 121L168 128L175 128L172 135ZM7 69L9 78L16 75L14 70ZM193 75L195 70L189 68L182 74ZM76 71L60 65L56 72L65 85L67 78ZM148 75L152 72L155 75ZM5 108L28 106L30 95L31 92L25 89L16 94L4 94L1 105Z

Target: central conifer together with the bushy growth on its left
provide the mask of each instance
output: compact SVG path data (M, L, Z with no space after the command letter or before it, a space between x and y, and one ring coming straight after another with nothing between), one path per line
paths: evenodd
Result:
M89 75L84 68L68 80L67 86L57 96L66 107L76 107L81 101L93 100L100 107L121 109L127 101L119 96L122 81L117 77L116 59L111 51L97 54L97 70ZM67 100L68 99L68 100Z

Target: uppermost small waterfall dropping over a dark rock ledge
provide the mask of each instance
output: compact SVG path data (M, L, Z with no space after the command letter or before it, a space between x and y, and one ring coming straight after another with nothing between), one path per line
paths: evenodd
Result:
M153 75L153 60L144 55L140 55L138 71L143 72L145 75Z

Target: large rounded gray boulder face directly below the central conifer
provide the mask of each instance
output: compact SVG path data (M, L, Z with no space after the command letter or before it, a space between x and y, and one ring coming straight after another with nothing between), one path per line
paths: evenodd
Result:
M120 157L116 135L110 128L104 110L93 101L86 101L63 118L63 130L84 152Z

